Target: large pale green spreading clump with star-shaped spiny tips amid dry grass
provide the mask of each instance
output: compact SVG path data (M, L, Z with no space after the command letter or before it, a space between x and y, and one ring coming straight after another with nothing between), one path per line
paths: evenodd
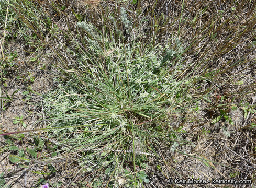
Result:
M103 49L102 36L92 25L79 26L88 51L81 52L77 66L65 73L69 81L59 80L58 89L44 96L46 113L55 119L51 126L64 127L51 134L81 151L85 172L105 167L113 171L130 157L134 166L139 165L136 156L150 155L161 140L172 145L172 138L177 138L169 115L184 113L192 81L179 79L183 66L171 61L169 45L149 45L141 51L140 42L105 38ZM172 67L177 67L175 72ZM88 166L88 161L95 166ZM121 168L112 173L118 175Z

